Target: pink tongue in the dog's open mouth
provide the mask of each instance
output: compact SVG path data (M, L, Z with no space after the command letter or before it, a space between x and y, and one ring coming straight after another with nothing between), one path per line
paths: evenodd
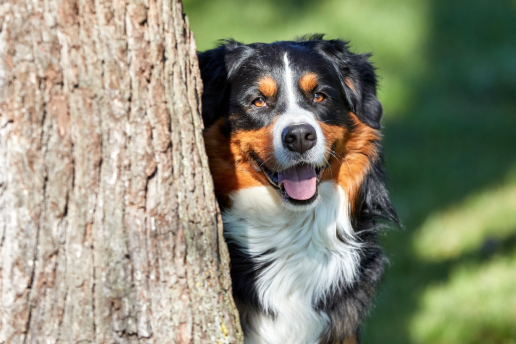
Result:
M299 165L292 169L278 172L278 184L283 184L287 194L299 201L310 199L317 191L315 168Z

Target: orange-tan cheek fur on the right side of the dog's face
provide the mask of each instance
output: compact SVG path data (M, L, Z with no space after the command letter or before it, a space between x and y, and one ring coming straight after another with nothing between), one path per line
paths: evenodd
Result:
M326 151L334 145L336 157L330 157L330 166L324 171L323 180L334 180L347 193L351 211L354 212L355 199L364 181L364 176L371 168L371 161L378 158L375 142L381 138L380 133L360 122L350 113L355 128L345 128L319 122L326 138Z

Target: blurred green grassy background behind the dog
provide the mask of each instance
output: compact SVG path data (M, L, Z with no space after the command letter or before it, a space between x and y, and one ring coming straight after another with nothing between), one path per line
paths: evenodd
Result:
M404 229L363 343L516 343L516 1L184 0L199 50L306 33L373 52Z

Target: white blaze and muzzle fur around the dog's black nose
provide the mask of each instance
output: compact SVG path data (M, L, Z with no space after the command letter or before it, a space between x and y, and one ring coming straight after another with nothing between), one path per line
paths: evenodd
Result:
M292 166L294 161L299 162L299 153L292 152L283 146L282 132L291 124L307 123L314 127L317 134L317 143L315 146L306 152L304 162L315 166L324 165L325 158L325 147L324 147L324 135L321 127L314 118L314 115L303 108L301 108L296 101L296 94L294 90L294 79L292 76L292 70L288 61L288 55L285 53L285 85L288 99L287 110L284 114L280 115L273 129L273 144L274 154L278 163L278 169L286 169Z

